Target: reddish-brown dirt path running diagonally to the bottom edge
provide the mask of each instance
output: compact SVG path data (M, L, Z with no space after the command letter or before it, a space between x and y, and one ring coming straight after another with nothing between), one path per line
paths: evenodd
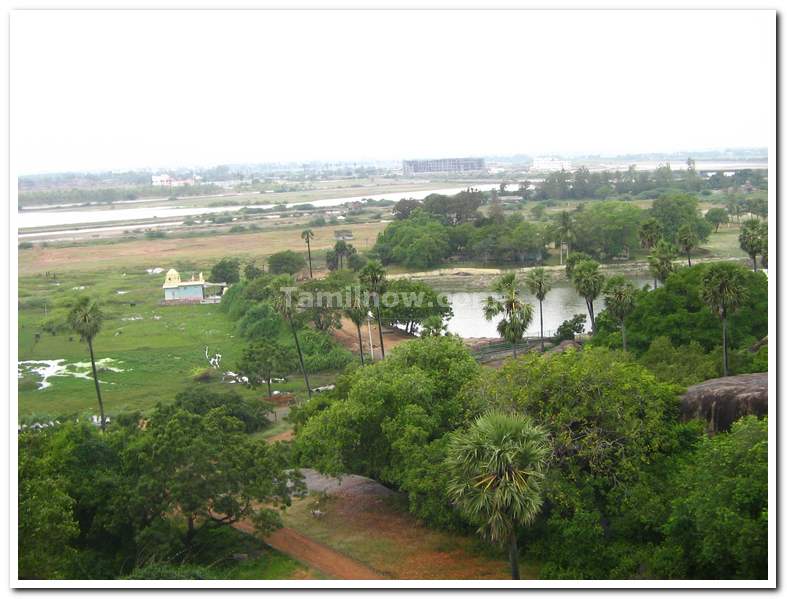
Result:
M238 522L236 528L254 534L250 522ZM319 570L326 576L342 580L381 580L383 577L352 558L326 547L293 528L280 528L265 537L265 542L277 551Z

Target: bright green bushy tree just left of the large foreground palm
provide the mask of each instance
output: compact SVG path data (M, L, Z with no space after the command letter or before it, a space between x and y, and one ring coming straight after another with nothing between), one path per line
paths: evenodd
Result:
M479 370L453 337L399 345L384 361L337 380L336 399L314 411L296 437L300 463L371 476L407 493L419 518L455 523L445 494L444 437L479 414L474 398L458 396Z

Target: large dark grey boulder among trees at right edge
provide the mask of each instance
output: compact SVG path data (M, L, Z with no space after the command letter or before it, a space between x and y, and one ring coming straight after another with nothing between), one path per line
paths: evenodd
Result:
M741 416L768 414L768 373L710 379L686 390L681 401L684 420L699 418L710 433L724 432Z

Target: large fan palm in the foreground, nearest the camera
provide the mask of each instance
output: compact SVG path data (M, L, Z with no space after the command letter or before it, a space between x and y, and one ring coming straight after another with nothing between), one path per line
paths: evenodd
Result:
M448 495L483 537L508 545L513 580L519 580L517 532L541 510L549 456L547 433L522 414L484 414L449 441Z

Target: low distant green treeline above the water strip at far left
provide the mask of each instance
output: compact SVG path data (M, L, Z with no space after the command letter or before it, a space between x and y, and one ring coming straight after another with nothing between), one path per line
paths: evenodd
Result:
M48 204L109 204L112 202L168 196L196 196L219 193L218 185L184 185L183 187L159 187L144 185L137 187L112 187L106 189L53 189L19 193L19 207L44 206Z

